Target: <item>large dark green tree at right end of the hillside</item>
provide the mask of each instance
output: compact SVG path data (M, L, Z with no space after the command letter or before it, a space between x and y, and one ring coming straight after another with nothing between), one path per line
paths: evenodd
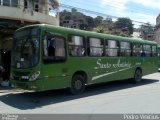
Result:
M133 33L133 24L132 20L129 18L118 18L118 20L114 23L115 29L126 29L128 30L128 34L131 35Z

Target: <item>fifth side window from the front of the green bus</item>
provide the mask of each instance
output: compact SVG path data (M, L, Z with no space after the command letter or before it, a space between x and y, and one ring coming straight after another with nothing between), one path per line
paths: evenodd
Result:
M131 56L131 44L129 42L120 42L120 55L123 57Z

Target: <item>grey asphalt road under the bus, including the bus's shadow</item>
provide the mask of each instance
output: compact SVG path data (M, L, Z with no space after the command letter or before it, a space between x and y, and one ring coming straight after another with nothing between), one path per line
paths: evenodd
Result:
M96 114L159 113L160 73L143 77L139 84L110 82L87 87L81 95L66 89L41 93L0 88L0 113Z

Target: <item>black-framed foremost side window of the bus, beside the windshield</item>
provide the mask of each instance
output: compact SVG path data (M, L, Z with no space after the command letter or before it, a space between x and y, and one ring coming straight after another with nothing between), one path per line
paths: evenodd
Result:
M44 62L62 62L65 60L65 56L65 39L61 36L45 36Z

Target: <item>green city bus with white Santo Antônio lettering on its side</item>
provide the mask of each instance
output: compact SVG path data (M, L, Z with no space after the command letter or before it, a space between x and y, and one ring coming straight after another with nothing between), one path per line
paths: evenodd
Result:
M34 91L130 79L157 72L155 42L39 24L15 32L12 86Z

